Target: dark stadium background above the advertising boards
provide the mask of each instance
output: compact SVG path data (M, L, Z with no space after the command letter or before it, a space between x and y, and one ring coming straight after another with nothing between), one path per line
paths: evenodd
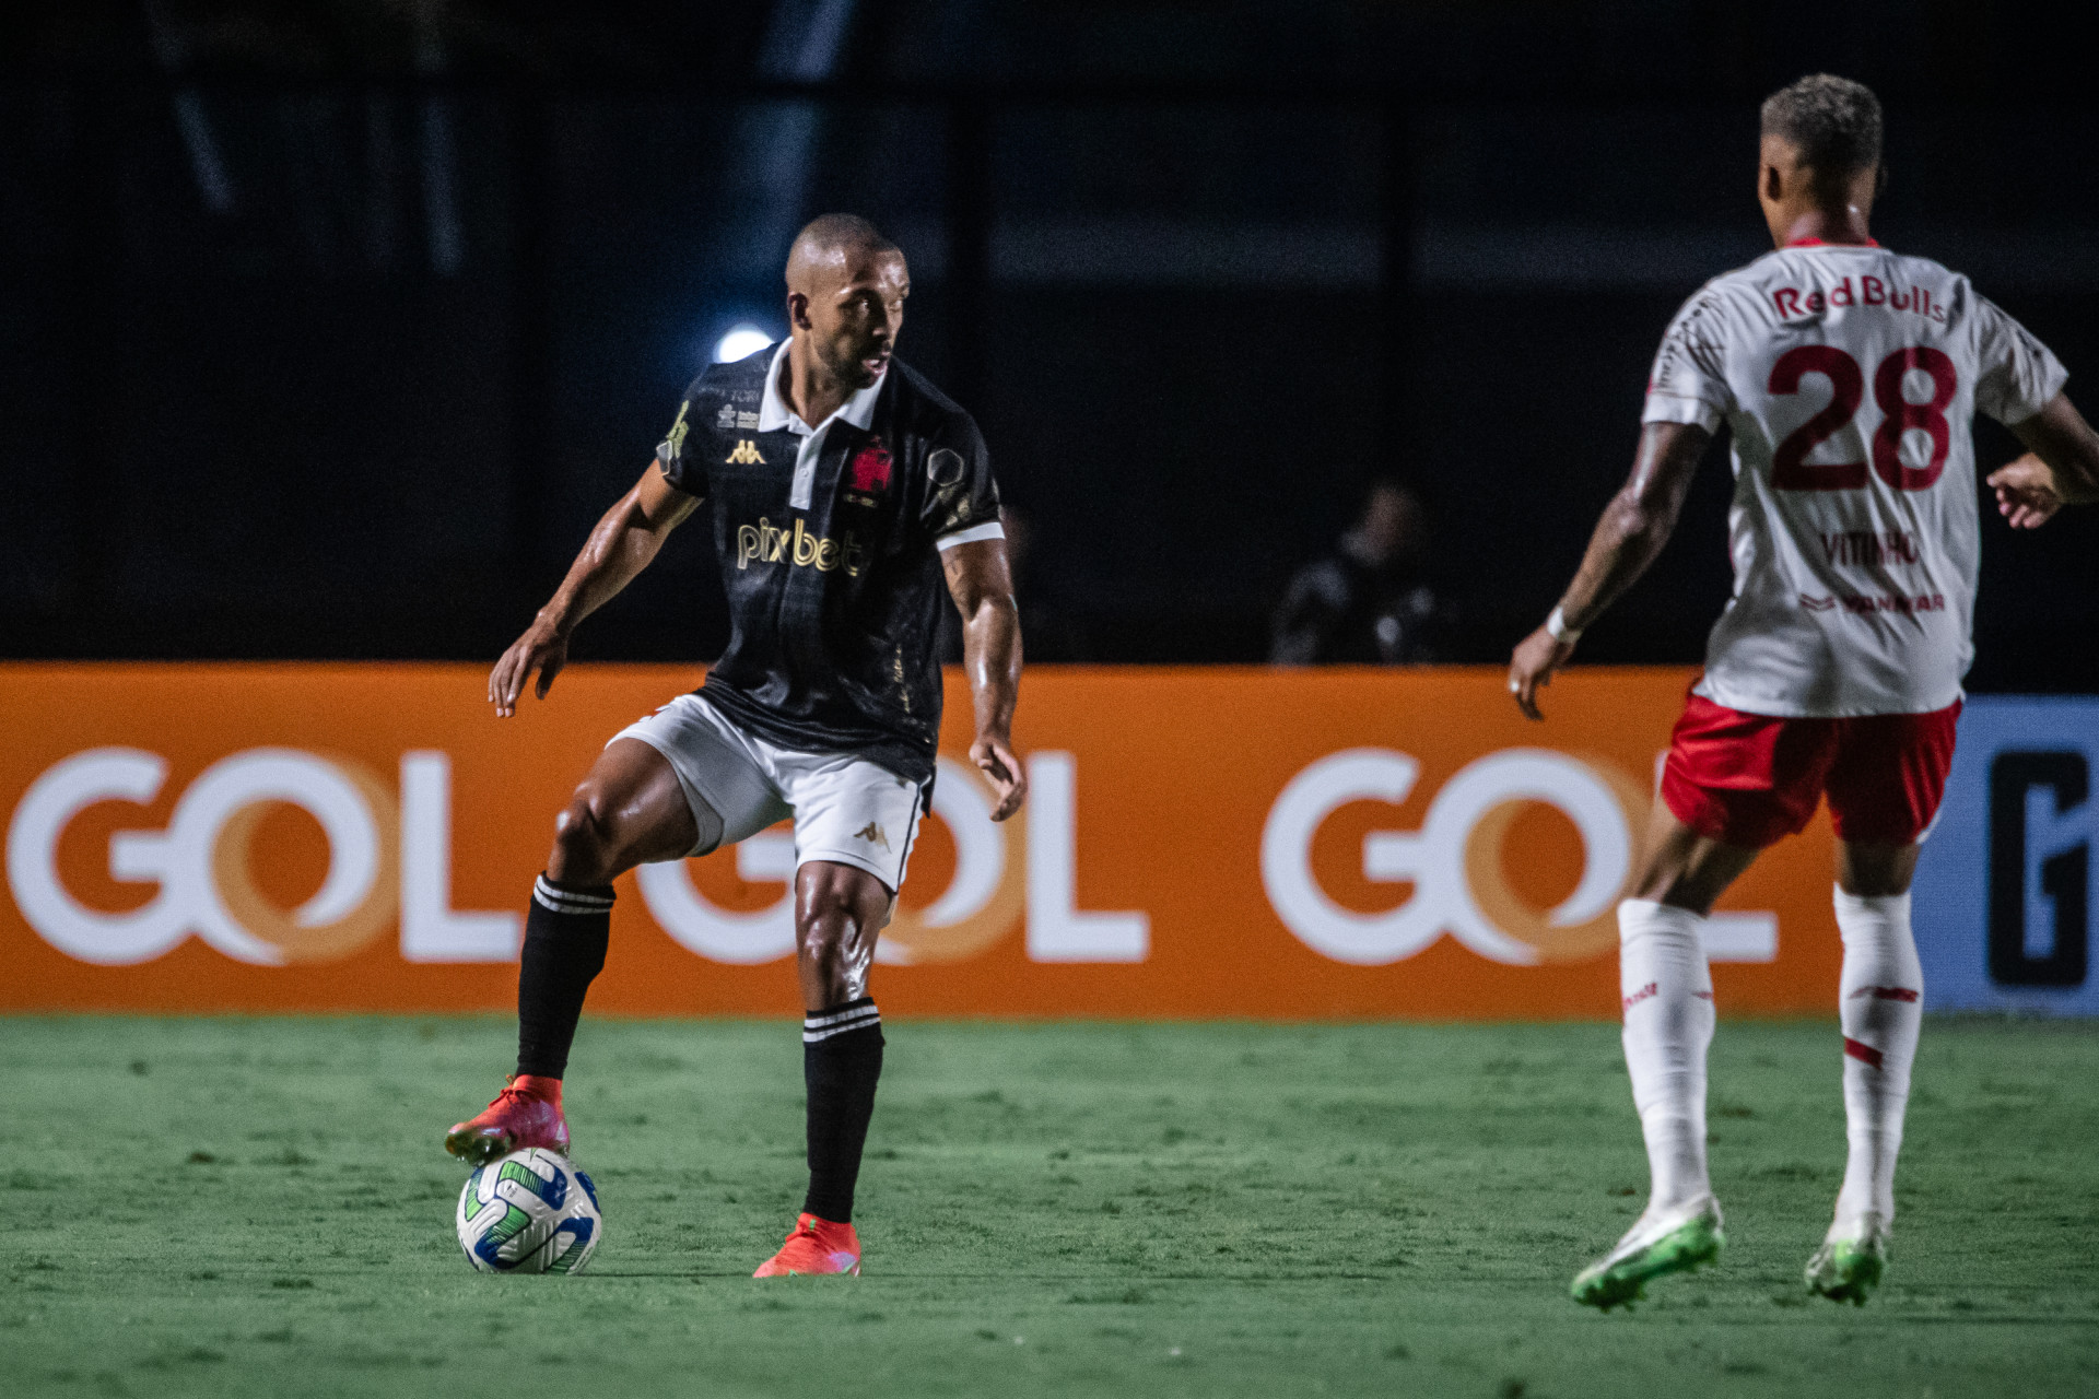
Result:
M493 659L808 214L911 256L1094 661L1257 661L1371 474L1465 661L1557 596L1755 105L1887 103L1883 241L2099 411L2099 105L2042 6L42 4L0 21L0 654ZM2011 438L1984 430L1984 464ZM1715 453L1595 661L1694 661ZM2099 688L2099 520L1990 516L1979 690ZM724 636L686 531L577 652Z

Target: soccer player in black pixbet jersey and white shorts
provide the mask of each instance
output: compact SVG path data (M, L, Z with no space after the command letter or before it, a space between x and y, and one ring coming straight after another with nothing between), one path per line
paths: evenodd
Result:
M909 294L903 252L867 220L827 214L802 229L787 342L693 380L657 459L489 675L497 715L516 711L535 671L544 698L575 625L686 516L712 514L728 650L699 690L615 736L554 818L525 923L516 1076L445 1149L474 1162L565 1152L560 1080L605 965L613 879L791 816L810 1183L758 1277L861 1271L852 1189L882 1074L867 967L932 789L942 581L963 619L970 759L997 791L993 820L1026 795L1010 736L1020 625L999 491L970 415L894 359Z

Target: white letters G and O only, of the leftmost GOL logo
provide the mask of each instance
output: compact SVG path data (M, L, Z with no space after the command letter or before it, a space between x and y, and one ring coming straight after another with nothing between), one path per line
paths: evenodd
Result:
M380 833L357 787L311 753L250 749L206 768L174 805L166 831L120 831L109 839L109 873L160 881L153 902L132 912L84 908L59 883L59 835L97 801L153 801L166 776L168 763L157 753L92 749L44 772L15 808L8 885L29 927L61 952L115 967L151 961L197 933L237 961L283 965L279 948L227 912L212 879L220 826L256 801L304 808L327 833L327 877L294 910L296 925L338 923L372 894L380 875Z

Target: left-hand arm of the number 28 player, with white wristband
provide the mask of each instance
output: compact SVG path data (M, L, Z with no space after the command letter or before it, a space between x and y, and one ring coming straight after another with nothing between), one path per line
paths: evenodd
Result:
M1553 671L1574 654L1583 627L1602 617L1669 543L1692 472L1711 440L1713 434L1696 424L1654 422L1639 430L1633 474L1595 522L1574 581L1545 625L1509 657L1509 694L1526 717L1545 717L1539 713L1539 686L1551 684Z

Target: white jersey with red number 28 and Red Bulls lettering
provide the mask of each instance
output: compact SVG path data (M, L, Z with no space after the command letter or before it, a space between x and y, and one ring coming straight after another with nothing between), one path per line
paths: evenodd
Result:
M1969 279L1797 243L1709 281L1641 422L1734 432L1734 598L1698 694L1744 713L1929 713L1973 657L1975 413L2017 424L2063 367Z

